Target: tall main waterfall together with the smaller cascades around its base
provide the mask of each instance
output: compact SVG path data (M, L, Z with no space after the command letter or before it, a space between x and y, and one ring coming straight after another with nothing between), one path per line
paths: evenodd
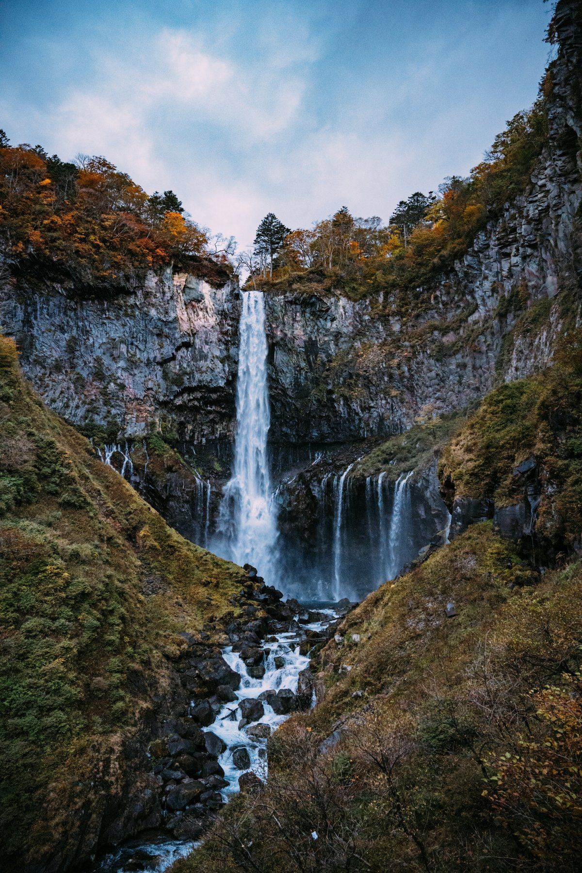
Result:
M191 524L183 533L237 564L252 564L270 584L300 601L332 602L342 597L359 601L382 582L394 579L422 546L447 527L448 511L438 496L431 502L423 494L413 471L395 481L389 470L364 479L354 461L343 471L308 477L307 496L315 501L317 511L305 524L301 504L289 499L295 478L285 476L285 456L287 470L291 466L293 471L322 466L325 470L332 460L325 447L315 450L313 457L311 446L269 450L262 292L243 292L239 334L232 475L223 488L216 518L218 501L210 479L195 474L189 499ZM145 455L142 474L134 468L134 450ZM147 492L145 440L112 443L96 451L105 464ZM271 487L270 460L277 471L276 488Z

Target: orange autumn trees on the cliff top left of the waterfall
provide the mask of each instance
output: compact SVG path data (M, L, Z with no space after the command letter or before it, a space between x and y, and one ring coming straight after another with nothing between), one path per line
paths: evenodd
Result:
M188 217L173 191L148 196L103 156L65 162L39 145L10 146L0 131L6 274L111 294L150 267L180 264L220 285L232 273L233 247L232 239L210 237Z

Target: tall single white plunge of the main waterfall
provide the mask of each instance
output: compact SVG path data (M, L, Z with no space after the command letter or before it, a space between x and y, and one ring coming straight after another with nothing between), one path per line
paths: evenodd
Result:
M264 297L243 292L236 382L236 436L233 476L224 486L218 528L225 555L252 563L274 581L277 517L270 492L267 338Z

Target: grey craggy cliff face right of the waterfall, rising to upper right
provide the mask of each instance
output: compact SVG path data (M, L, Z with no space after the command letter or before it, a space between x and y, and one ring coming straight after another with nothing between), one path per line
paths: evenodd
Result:
M299 287L270 295L275 438L399 432L426 404L459 409L496 381L535 373L566 322L579 322L582 58L567 12L557 29L549 145L531 187L506 204L453 272L425 289L425 312L402 320L390 300L352 302Z

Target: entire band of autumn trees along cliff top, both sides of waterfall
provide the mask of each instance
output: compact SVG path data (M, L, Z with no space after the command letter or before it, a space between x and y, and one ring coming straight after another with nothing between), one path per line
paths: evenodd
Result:
M0 272L60 271L106 286L203 258L247 272L255 287L323 272L355 296L412 292L451 266L503 203L523 192L547 141L550 89L548 74L533 107L508 122L468 177L449 177L436 194L414 192L387 224L342 206L311 228L291 230L270 212L254 245L237 257L234 237L210 234L173 191L148 196L102 156L64 162L39 145L10 146L0 131Z

